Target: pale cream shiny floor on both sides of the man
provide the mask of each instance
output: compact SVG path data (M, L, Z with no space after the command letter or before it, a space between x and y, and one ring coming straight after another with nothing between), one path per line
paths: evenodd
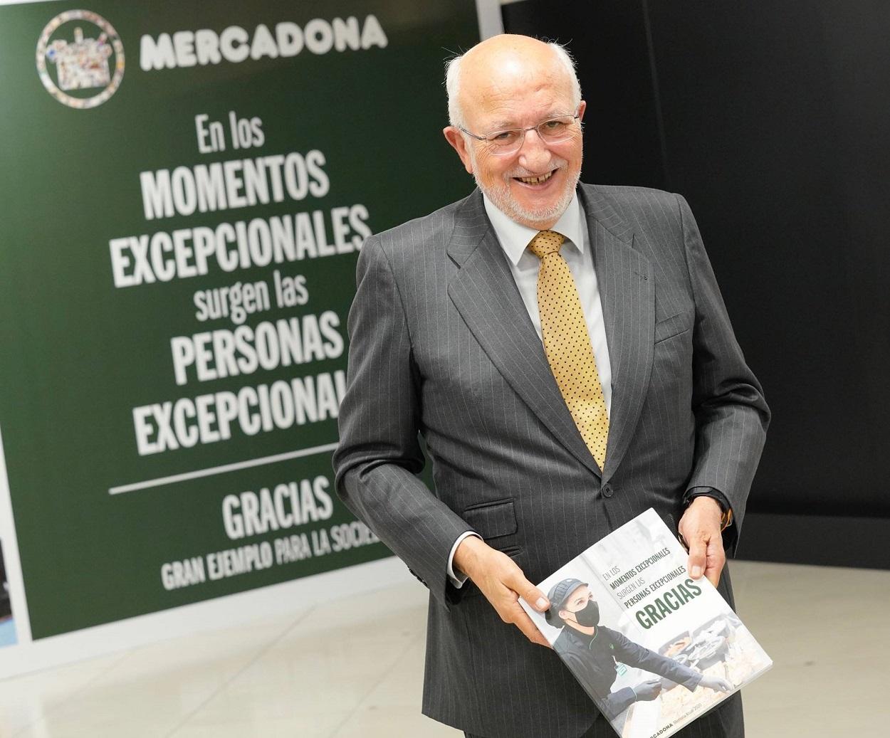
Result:
M748 738L890 735L890 572L732 578L775 662L744 690ZM0 681L0 738L459 736L420 715L425 599L406 584Z

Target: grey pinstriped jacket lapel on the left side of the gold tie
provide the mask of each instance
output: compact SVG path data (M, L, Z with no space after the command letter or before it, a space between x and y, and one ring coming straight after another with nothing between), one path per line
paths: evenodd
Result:
M467 198L458 214L448 253L460 268L449 282L449 297L473 336L531 411L599 476L600 469L556 386L480 192Z

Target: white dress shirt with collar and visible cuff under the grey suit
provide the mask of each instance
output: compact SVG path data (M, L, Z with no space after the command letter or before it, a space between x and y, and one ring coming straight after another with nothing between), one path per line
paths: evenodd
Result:
M485 212L488 213L491 225L501 248L504 249L506 260L510 265L510 271L525 309L529 311L531 324L541 338L541 317L538 311L538 269L541 261L533 253L527 250L532 238L538 235L535 229L521 226L512 221L505 213L501 213L488 197L482 196L485 203ZM606 412L611 417L611 364L609 363L609 347L606 345L606 327L603 322L603 303L600 301L600 287L596 281L593 254L590 248L590 237L587 233L587 219L584 209L578 201L578 193L571 198L569 207L554 227L551 229L561 233L565 237L560 253L569 265L571 276L578 287L578 297L581 300L581 310L587 322L587 333L590 335L590 343L594 348L596 370L600 375L600 384L603 385L603 398L606 403ZM543 338L541 339L543 341ZM456 587L462 587L466 582L465 575L457 576L454 571L453 561L457 546L468 535L476 535L467 531L457 538L448 559L448 575Z

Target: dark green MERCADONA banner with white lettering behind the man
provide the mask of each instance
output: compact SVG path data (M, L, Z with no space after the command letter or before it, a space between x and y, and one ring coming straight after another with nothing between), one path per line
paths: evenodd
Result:
M4 70L0 76L0 427L34 638L389 555L379 542L362 538L357 526L352 533L360 545L335 550L336 535L344 530L337 526L352 517L336 500L329 450L180 481L152 482L316 446L327 449L336 443L335 418L288 424L284 417L282 427L254 435L233 422L229 439L158 453L141 454L136 439L134 408L159 405L163 413L165 403L182 398L193 403L196 397L210 396L201 402L218 409L212 404L220 397L217 393L231 392L235 397L246 387L289 384L307 376L318 378L316 386L323 382L320 375L336 385L336 372L346 364L345 348L337 349L336 341L327 341L331 356L319 358L318 349L312 354L310 347L306 350L312 360L303 363L260 366L205 381L198 381L192 365L185 384L176 382L171 341L202 332L233 336L238 325L231 317L198 320L195 294L238 282L264 282L271 294L270 308L248 315L241 325L253 331L261 324L278 325L282 318L302 321L304 316L333 311L336 318L328 333L338 333L345 343L355 250L344 247L344 253L323 258L307 256L264 266L250 260L249 266L231 271L212 258L206 274L194 277L183 276L189 271L186 255L181 276L116 286L112 242L137 237L138 244L138 237L177 230L193 237L194 229L213 232L223 223L235 228L236 223L255 219L261 221L257 231L261 233L263 222L268 227L276 218L294 222L297 213L320 212L315 217L323 221L327 243L320 243L317 230L303 237L315 238L316 249L323 251L335 243L331 219L338 207L362 205L367 210L364 220L361 208L353 212L360 222L348 233L346 240L352 243L352 237L360 240L361 222L371 232L390 228L463 196L471 185L441 136L447 118L441 76L442 60L449 52L478 40L472 0L421 4L96 0L86 7L113 27L121 46L115 49L113 37L108 36L104 39L108 51L84 46L79 57L72 56L77 52L76 28L81 29L84 43L102 40L102 28L81 18L62 22L48 34L49 47L59 39L65 42L56 44L53 60L44 52L46 76L59 89L64 54L69 54L69 64L79 64L86 72L95 71L99 54L109 61L113 75L123 49L119 87L92 108L69 107L54 99L36 66L44 28L54 17L80 7L69 3L0 7ZM368 16L376 19L384 42ZM351 48L354 38L343 30L351 17L367 31L366 47ZM344 22L338 25L335 19ZM303 38L303 49L295 55L282 55L278 46L278 57L271 58L268 39L257 27L270 29L268 36L274 38L276 25L282 22L295 24L305 36L311 31L312 38ZM221 58L218 63L183 66L198 60L198 42L205 44L207 61L208 54L213 56L213 44L222 43L225 29L231 27L244 29L247 43L256 44L258 58ZM206 33L198 34L201 30ZM162 46L164 34L176 64L142 68L150 66L143 49ZM259 42L258 35L263 36ZM229 56L243 53L241 37L237 30L229 32ZM338 37L343 51L337 49ZM292 52L293 38L290 43ZM318 52L326 45L330 51ZM99 84L67 94L91 100L103 88ZM231 111L239 118L261 121L262 146L232 147ZM222 124L225 150L199 150L199 115L206 115L207 123ZM146 219L140 172L164 170L174 176L183 167L185 180L179 180L179 192L188 200L186 180L195 176L199 164L290 152L306 155L312 150L323 155L324 164L317 169L329 181L321 197L309 192L295 199L285 188L281 202ZM265 171L268 179L271 164ZM299 167L293 172L299 195L304 182L299 180ZM312 176L309 181L318 183ZM242 186L247 187L243 182ZM237 198L237 182L235 188ZM297 228L310 221L312 216L303 216ZM257 248L262 248L262 233L256 238ZM188 238L184 243L194 244ZM120 269L132 273L137 261L140 270L145 268L146 259L140 261L132 248L120 253L126 257ZM164 259L166 253L158 246ZM159 263L169 267L168 261ZM302 277L304 304L277 305L276 269L282 275ZM144 271L140 274L144 277ZM306 330L304 339L312 333ZM212 341L191 345L198 346L199 354L212 348ZM215 366L217 373L219 365L231 366L215 355L206 364ZM196 419L187 413L182 418L183 427L196 429L188 434L198 432ZM214 423L207 421L202 437L213 437L213 430ZM314 482L316 492L306 484L301 491L302 480L309 480L309 486ZM145 482L151 484L127 486ZM291 482L300 493L291 497L282 487L276 499L276 485ZM265 500L263 488L269 491ZM243 513L239 495L245 492L256 493L253 517L266 532L249 531L252 534L232 538L227 534L223 501L236 495L228 497L230 508ZM332 498L329 505L326 494ZM293 514L295 500L300 515L290 519L287 515ZM238 533L239 521L228 522L230 532ZM320 545L324 534L332 544L329 551ZM280 539L296 545L286 546ZM263 566L250 572L211 577L208 555L235 551L214 557L217 569L224 571L220 562L229 559L230 566L237 565L239 556L261 552L254 544L263 542L271 547L271 566L261 561ZM306 543L308 549L303 548ZM250 548L238 553L245 546ZM298 560L286 562L287 551ZM182 565L183 561L189 563ZM198 572L202 567L204 582ZM187 582L189 586L182 586Z

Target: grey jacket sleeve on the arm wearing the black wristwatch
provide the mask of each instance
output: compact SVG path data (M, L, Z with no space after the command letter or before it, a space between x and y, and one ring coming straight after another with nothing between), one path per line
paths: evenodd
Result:
M677 195L676 198L695 301L692 334L695 461L686 488L713 487L729 501L734 525L727 529L732 536L727 548L732 553L763 450L770 410L763 389L735 340L692 211L684 197Z

